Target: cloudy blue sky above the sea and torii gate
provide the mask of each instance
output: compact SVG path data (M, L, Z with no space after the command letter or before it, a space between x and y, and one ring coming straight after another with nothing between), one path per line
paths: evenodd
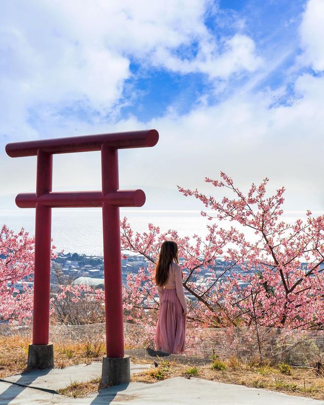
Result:
M323 27L323 0L4 0L0 209L35 187L6 143L156 128L154 149L120 153L148 209L196 209L176 185L213 193L204 177L225 171L322 210ZM57 156L55 189L100 188L98 160Z

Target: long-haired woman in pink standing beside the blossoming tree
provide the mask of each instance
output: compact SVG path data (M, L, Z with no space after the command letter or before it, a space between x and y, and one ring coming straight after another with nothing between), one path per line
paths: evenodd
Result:
M160 301L155 330L155 350L183 353L186 339L187 304L182 287L182 271L178 260L178 245L166 240L161 245L155 282Z

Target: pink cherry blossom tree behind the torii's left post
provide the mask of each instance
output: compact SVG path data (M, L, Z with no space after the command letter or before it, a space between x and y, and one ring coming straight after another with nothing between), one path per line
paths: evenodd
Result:
M55 246L52 246L52 250ZM52 259L56 255L51 252ZM32 319L34 237L21 229L15 233L7 225L0 240L0 319L29 324ZM90 286L59 284L51 294L52 321L79 325L104 321L104 292Z

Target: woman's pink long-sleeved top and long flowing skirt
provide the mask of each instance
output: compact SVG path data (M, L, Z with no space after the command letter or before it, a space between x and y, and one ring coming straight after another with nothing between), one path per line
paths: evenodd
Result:
M164 286L157 286L160 301L156 324L154 348L167 353L179 354L185 349L187 309L182 286L181 267L172 263Z

